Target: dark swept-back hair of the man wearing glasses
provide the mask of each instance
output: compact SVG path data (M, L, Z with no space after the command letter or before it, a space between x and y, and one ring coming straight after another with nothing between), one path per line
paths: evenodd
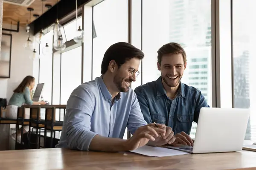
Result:
M108 65L111 60L115 60L118 68L121 67L126 61L132 58L143 59L144 53L127 42L117 42L111 45L105 52L102 59L101 74L105 74L108 71Z

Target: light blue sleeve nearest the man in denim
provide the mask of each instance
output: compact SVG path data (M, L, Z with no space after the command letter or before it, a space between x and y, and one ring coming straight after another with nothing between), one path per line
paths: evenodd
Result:
M128 118L127 127L131 134L134 134L138 127L147 125L147 122L143 118L143 114L140 110L140 104L136 97L136 94L133 92L131 105L131 112Z

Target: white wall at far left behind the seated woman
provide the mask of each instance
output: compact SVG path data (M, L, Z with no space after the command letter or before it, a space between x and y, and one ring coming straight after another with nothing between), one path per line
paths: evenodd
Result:
M9 27L3 26L3 28ZM34 61L29 58L32 51L27 51L23 48L23 44L28 38L25 28L20 27L19 32L3 31L3 33L12 34L11 77L9 79L0 79L0 98L9 100L13 90L23 78L27 75L33 76Z

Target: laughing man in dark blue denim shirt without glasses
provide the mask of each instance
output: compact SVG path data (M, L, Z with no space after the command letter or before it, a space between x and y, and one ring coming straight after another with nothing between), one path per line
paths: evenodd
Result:
M202 107L209 107L198 89L180 82L186 69L186 52L175 42L163 45L157 51L157 68L161 76L134 91L147 123L157 122L172 127L180 144L193 146L189 136L192 122L198 122Z

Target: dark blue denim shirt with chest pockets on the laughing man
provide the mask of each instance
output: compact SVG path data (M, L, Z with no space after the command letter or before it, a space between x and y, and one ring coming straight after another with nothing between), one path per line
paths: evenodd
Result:
M181 82L177 96L170 99L163 88L161 77L134 91L145 121L172 127L175 134L182 131L189 134L192 122L198 122L200 109L209 107L201 91Z

